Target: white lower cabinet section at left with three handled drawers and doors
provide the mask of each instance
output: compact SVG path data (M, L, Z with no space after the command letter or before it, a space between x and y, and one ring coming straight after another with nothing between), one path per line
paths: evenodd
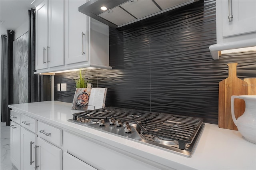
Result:
M62 170L62 129L37 121L22 113L20 125L11 121L12 163L18 170ZM13 118L14 120L16 120ZM38 131L37 131L38 129ZM55 145L56 146L55 146Z

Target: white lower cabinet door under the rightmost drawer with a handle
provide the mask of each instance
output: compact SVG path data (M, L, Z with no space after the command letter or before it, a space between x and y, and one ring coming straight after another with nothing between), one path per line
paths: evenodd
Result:
M38 170L61 170L62 150L42 138L37 138Z

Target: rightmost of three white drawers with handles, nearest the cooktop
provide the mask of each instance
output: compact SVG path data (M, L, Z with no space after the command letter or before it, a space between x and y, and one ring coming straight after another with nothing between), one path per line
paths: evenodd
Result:
M38 137L58 146L62 145L62 129L38 121Z

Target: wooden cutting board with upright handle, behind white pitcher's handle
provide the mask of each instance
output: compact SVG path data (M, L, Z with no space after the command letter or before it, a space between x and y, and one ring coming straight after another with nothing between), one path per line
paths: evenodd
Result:
M247 95L247 82L236 77L238 63L228 63L228 78L219 83L219 117L220 128L238 130L231 116L231 96ZM244 113L245 103L242 99L234 100L236 119Z

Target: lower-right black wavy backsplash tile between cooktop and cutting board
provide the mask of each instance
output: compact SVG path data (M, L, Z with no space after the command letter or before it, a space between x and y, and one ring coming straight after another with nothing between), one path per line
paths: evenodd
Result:
M151 89L151 111L158 110L201 117L208 123L215 123L216 118L218 120L218 90Z

